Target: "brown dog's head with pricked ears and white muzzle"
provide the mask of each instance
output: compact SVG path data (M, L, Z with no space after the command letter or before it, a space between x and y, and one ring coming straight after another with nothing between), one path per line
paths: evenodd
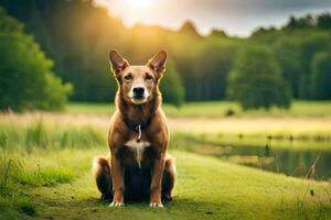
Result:
M152 99L158 82L166 69L167 53L156 54L146 65L130 65L117 52L109 53L113 72L128 102L142 105Z

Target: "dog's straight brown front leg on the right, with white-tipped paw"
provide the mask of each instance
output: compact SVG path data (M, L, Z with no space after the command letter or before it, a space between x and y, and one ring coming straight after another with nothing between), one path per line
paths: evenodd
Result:
M150 207L163 207L161 202L161 182L162 175L164 170L164 155L162 154L160 158L158 158L152 167L152 179L150 186Z

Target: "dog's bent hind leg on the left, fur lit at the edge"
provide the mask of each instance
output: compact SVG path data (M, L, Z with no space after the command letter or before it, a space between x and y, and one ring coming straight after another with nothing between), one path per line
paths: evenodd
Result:
M109 158L97 156L93 161L93 174L103 200L113 199L113 183Z

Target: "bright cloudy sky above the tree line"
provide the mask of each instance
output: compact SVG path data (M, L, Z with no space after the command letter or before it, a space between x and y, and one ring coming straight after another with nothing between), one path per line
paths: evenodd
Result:
M248 36L256 28L284 25L290 15L331 12L331 0L95 0L127 26L136 23L178 30L190 20L201 34L222 29Z

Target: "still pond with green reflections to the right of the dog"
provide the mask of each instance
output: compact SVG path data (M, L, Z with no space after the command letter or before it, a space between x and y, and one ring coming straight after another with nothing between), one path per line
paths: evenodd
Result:
M331 180L331 152L260 146L222 147L217 157L288 176ZM313 166L314 165L314 166Z

